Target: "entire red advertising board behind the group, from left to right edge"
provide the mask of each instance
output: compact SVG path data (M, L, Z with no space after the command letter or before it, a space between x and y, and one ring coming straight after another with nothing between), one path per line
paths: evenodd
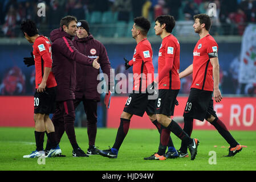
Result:
M107 111L107 127L117 128L120 115L127 97L113 96L111 106ZM182 126L183 111L187 97L177 98L180 105L174 111L174 121ZM0 97L0 126L34 127L34 98L32 96L1 96ZM256 130L256 98L254 97L224 97L220 103L214 102L214 109L218 117L229 130ZM147 114L143 117L134 115L131 128L155 129ZM213 130L208 122L194 121L193 129Z

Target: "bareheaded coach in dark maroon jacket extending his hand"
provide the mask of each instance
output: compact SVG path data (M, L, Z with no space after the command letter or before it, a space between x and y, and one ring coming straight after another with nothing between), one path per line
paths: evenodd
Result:
M80 53L72 44L72 37L75 36L76 18L65 16L60 20L60 28L51 32L52 42L52 72L54 73L56 89L56 110L52 117L55 126L56 140L66 131L68 139L73 147L73 156L88 156L80 149L76 142L74 122L75 122L75 85L76 85L76 62L88 67L99 69L97 59L91 59Z

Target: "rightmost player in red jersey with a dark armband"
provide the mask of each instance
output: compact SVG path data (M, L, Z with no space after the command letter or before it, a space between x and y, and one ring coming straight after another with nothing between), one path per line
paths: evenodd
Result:
M194 15L194 31L200 36L193 51L193 64L189 65L179 74L185 77L193 73L193 81L189 93L188 102L184 110L184 131L191 135L193 119L210 122L230 144L229 154L234 156L242 150L242 146L232 137L225 124L217 117L213 109L213 98L216 102L222 100L219 89L220 65L218 62L218 44L209 34L211 27L210 17L206 14ZM188 153L187 147L181 143L180 156Z

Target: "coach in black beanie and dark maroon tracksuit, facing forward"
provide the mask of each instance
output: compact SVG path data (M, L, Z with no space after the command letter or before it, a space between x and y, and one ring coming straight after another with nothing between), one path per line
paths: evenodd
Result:
M75 39L72 41L75 48L91 59L99 56L100 67L103 73L110 78L111 67L105 47L90 34L90 28L86 20L79 20L77 27L78 31L76 31ZM80 63L76 65L76 100L74 101L74 106L76 108L80 102L83 102L84 111L86 111L89 138L88 155L97 154L95 150L95 138L97 132L97 102L100 101L100 94L97 92L97 85L99 84L97 76L99 73L99 69Z

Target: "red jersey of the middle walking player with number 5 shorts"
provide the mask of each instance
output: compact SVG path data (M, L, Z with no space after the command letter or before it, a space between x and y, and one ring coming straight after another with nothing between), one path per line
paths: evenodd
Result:
M180 43L172 34L162 39L159 49L159 89L180 89Z

